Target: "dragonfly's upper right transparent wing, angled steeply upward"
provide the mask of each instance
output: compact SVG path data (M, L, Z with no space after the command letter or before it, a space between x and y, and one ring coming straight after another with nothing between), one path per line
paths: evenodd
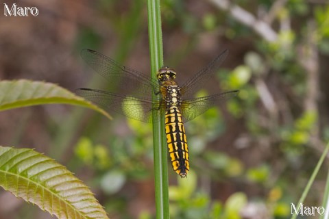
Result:
M195 92L202 88L206 81L211 79L215 75L215 71L218 70L219 66L228 56L228 50L226 49L220 55L218 55L215 60L212 60L208 66L199 70L191 79L188 79L183 86L181 86L182 98L183 99L192 99Z

